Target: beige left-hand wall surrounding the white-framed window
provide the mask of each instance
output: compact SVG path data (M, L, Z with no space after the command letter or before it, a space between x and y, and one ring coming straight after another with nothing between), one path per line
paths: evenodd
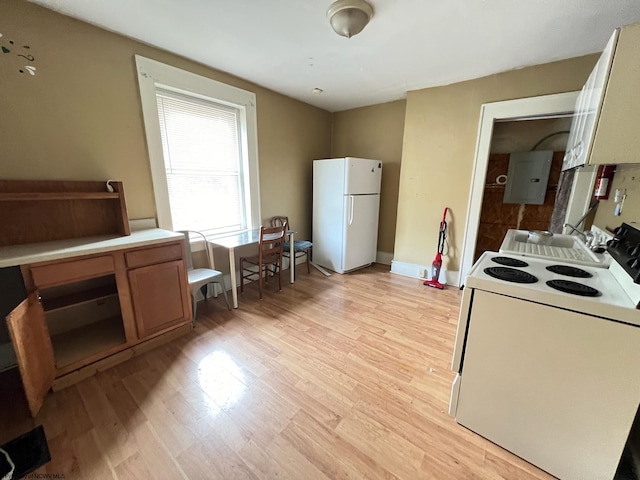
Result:
M124 181L130 218L155 216L134 55L255 92L262 216L311 230L311 169L330 155L331 114L185 58L21 0L2 2L0 178ZM212 208L203 207L203 208Z

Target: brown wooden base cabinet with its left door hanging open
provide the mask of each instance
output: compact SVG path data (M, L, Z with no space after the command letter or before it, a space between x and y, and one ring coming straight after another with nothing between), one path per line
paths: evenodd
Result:
M11 205L0 202L0 217ZM103 246L89 254L20 265L20 298L27 298L6 321L32 415L52 388L190 332L183 242L180 234L154 229L97 242Z

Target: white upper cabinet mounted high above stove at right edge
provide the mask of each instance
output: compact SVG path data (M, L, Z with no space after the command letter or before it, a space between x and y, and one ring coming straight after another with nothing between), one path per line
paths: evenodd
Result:
M640 24L616 29L589 75L562 169L640 163Z

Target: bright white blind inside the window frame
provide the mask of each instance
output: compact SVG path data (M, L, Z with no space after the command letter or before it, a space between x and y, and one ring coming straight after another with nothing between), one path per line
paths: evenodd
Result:
M159 88L156 100L173 229L247 228L239 110Z

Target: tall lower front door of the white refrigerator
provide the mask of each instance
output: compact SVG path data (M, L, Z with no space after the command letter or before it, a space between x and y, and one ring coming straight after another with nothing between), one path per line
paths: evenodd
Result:
M379 206L380 195L345 195L342 272L375 262Z

